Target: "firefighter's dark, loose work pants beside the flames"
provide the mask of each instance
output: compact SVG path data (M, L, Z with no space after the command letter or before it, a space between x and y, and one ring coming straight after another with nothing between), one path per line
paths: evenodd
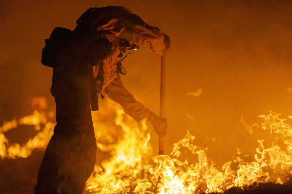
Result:
M38 172L36 194L82 194L96 161L91 119L94 95L92 67L53 72L51 93L56 102L54 134Z

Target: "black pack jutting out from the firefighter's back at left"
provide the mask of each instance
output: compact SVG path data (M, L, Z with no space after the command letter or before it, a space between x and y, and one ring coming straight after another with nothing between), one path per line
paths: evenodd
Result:
M58 64L58 59L69 48L71 40L71 30L56 27L50 38L45 39L46 45L42 51L41 63L47 67L55 67Z

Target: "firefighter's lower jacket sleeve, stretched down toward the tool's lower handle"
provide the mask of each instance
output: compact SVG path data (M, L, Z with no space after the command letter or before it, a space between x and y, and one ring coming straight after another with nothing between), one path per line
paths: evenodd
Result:
M137 122L144 118L149 118L153 114L125 89L119 76L106 86L105 92L111 100L119 103L125 113L133 117Z

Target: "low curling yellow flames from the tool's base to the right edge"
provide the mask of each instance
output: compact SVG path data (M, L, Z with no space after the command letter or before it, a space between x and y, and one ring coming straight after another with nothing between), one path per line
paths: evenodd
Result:
M195 137L187 131L185 138L181 139L177 143L174 143L173 156L179 157L181 155L182 147L187 148L192 154L198 154L198 163L188 164L178 160L173 160L168 156L156 156L153 157L154 162L158 163L155 168L150 168L150 173L155 177L160 177L160 182L157 184L158 193L187 193L189 184L192 184L190 193L198 192L198 185L202 182L206 184L205 193L222 192L224 188L230 187L244 187L245 185L253 184L254 182L265 182L270 179L269 172L265 172L263 167L269 166L275 169L280 166L283 170L288 171L292 166L292 133L290 125L285 123L286 119L280 119L281 114L260 115L260 118L265 119L262 122L262 129L270 129L271 133L276 136L275 141L272 142L272 146L265 148L264 140L258 140L260 146L256 149L255 162L246 163L244 160L237 157L234 163L239 163L237 170L230 168L231 161L227 162L221 170L218 170L212 161L207 160L204 149L199 149L192 141ZM243 123L243 119L240 119ZM254 126L257 126L254 124ZM251 126L248 125L250 131ZM282 140L287 145L287 151L282 150L276 142ZM240 153L240 150L238 150ZM260 154L260 157L258 156ZM176 165L175 165L176 164ZM183 171L183 168L187 168L187 171ZM179 172L179 176L177 175ZM187 182L186 180L189 172L194 175ZM156 180L158 180L156 178ZM277 183L281 183L280 179ZM184 187L182 185L185 185ZM187 186L186 186L187 185Z

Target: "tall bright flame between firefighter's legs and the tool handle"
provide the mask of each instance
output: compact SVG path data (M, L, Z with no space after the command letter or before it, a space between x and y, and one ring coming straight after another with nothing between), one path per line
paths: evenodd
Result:
M145 122L142 121L143 131L147 130ZM149 156L153 154L148 144L150 135L145 137L138 124L121 108L116 108L115 124L116 130L122 133L117 143L107 148L112 157L102 162L88 180L86 189L91 193L112 193L129 191L135 185L135 192L143 192L152 186L147 178L151 167Z

